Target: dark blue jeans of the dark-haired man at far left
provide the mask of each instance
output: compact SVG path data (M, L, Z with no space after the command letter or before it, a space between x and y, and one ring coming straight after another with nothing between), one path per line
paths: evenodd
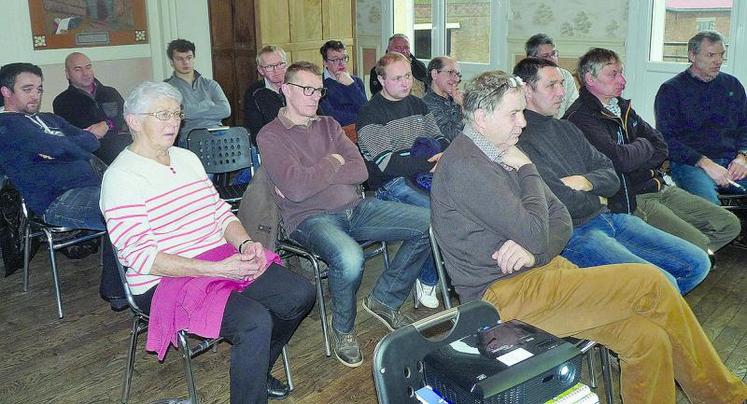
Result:
M126 192L126 191L123 191ZM100 187L81 187L67 190L52 201L44 211L44 221L73 229L106 230L99 208ZM101 269L99 293L107 300L124 298L124 289L117 273L114 249L108 236L101 241L104 265Z

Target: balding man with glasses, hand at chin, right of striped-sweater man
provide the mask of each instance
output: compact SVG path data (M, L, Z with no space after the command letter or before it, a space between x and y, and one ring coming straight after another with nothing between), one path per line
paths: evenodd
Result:
M441 133L451 141L462 133L464 114L462 113L462 91L459 83L462 73L459 63L449 56L439 56L428 63L431 87L423 97L423 102L436 118Z

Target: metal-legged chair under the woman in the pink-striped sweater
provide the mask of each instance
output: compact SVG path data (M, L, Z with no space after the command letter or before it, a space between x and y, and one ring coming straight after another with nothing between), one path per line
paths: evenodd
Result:
M116 254L116 251L115 251ZM130 291L130 285L127 283L127 270L117 260L117 270L119 272L119 278L122 281L122 286L125 290L125 296L127 297L127 303L130 305L132 310L132 329L130 330L130 343L127 348L127 363L125 370L125 379L122 386L122 403L127 403L130 399L130 387L132 386L132 374L135 370L135 351L137 349L138 336L148 329L149 317L138 307L135 299L132 297L132 291ZM189 402L190 404L198 404L199 398L197 396L197 387L195 385L195 377L192 372L192 359L197 355L207 351L210 348L215 348L218 343L223 341L223 338L199 338L200 342L197 345L190 345L189 333L186 330L179 330L177 332L177 342L179 344L179 352L182 354L184 360L184 375L187 380L187 390L189 391ZM287 347L283 347L283 367L285 368L285 377L288 383L288 388L293 390L293 378L291 376L290 362L288 359ZM259 375L258 377L265 377L265 375Z

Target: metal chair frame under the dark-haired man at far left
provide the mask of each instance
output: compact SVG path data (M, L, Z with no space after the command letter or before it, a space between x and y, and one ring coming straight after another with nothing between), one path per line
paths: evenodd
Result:
M31 239L34 237L44 236L44 240L47 242L49 249L49 261L52 269L52 280L54 282L55 296L57 300L57 317L62 318L62 291L60 289L60 275L57 270L57 259L55 257L55 251L82 243L84 241L93 240L106 235L106 230L94 231L94 233L86 234L79 237L64 237L62 239L55 240L56 235L69 233L76 230L86 229L75 229L71 227L55 226L44 222L41 218L37 217L33 213L29 212L26 207L26 203L21 198L21 210L23 212L23 227L24 227L24 249L23 249L23 291L28 292L29 289L29 263L31 261L30 249ZM101 254L101 260L99 265L103 265L103 246L99 249Z

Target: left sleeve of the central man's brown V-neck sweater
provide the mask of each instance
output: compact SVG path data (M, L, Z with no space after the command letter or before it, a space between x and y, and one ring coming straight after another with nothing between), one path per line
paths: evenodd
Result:
M280 192L292 202L302 202L332 184L332 178L343 166L331 154L312 165L304 165L286 140L287 133L275 120L259 132L257 144L262 153L262 165Z

